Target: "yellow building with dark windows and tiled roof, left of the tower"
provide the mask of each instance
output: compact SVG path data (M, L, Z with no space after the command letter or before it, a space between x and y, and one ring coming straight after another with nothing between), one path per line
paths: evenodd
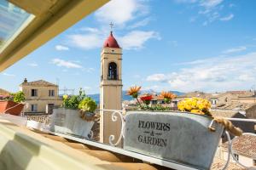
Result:
M25 113L52 113L55 105L61 105L59 87L44 80L24 82L20 84L20 91L25 94Z

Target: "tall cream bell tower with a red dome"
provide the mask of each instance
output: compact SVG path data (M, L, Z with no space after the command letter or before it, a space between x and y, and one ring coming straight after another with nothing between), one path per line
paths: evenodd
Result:
M114 135L115 140L119 138L121 131L121 120L112 122L113 111L122 109L122 48L113 37L113 31L104 42L101 57L101 86L100 86L100 109L101 129L100 141L109 144L109 136Z

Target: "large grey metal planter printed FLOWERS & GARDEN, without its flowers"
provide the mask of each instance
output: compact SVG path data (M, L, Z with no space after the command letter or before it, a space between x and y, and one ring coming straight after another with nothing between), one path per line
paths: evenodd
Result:
M210 169L224 128L212 119L188 113L131 111L125 116L124 149Z

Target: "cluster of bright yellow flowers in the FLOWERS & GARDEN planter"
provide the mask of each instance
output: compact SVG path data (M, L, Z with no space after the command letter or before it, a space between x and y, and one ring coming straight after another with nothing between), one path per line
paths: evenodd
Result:
M211 113L209 111L211 108L211 104L207 99L187 98L183 101L180 101L177 104L177 108L179 111L189 111L191 113L199 115L211 116Z

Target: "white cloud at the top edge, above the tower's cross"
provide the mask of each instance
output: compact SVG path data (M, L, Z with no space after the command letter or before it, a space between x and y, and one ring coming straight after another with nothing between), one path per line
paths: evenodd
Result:
M112 0L97 10L95 15L96 20L103 23L113 21L116 25L124 25L142 14L148 14L148 8L140 0Z

